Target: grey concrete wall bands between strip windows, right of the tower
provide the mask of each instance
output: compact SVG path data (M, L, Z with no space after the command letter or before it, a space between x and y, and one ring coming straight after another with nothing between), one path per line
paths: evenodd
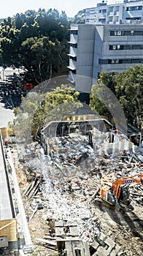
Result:
M102 45L101 59L143 59L143 50L131 49L131 50L109 50L109 45L142 45L142 35L139 36L110 36L110 30L116 31L142 31L142 25L119 25L119 26L105 26L104 27L104 39ZM102 64L101 71L121 72L134 64L142 63L122 63L122 64Z

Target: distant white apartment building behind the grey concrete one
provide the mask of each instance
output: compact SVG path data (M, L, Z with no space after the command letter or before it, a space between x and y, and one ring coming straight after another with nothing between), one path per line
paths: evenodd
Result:
M124 0L109 4L102 1L96 7L85 10L85 23L88 24L123 24L143 23L143 1Z

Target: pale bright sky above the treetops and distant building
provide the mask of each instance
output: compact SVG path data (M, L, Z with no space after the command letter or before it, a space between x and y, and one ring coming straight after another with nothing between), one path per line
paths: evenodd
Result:
M115 3L116 0L108 0L108 4ZM119 0L120 1L120 0ZM118 2L119 2L118 1ZM39 8L48 10L55 8L59 12L66 12L68 17L74 17L79 10L96 7L101 0L2 0L0 5L0 18L7 18L16 15L18 12L26 10L39 10Z

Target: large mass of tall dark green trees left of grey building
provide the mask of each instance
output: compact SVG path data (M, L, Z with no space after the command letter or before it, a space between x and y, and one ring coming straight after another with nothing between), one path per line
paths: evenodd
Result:
M63 75L67 72L68 39L65 12L28 10L4 19L0 26L0 66L23 69L26 81L34 84L57 72Z

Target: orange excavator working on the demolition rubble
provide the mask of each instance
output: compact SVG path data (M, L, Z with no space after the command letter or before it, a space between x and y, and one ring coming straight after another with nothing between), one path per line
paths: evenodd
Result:
M100 197L112 206L120 206L130 204L129 186L131 184L143 184L143 174L140 177L131 176L117 179L116 181L102 181Z

